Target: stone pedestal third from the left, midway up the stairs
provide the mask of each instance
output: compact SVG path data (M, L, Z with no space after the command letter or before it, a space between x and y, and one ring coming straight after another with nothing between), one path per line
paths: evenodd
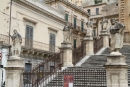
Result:
M86 55L93 55L94 54L93 37L85 36L84 43L86 43Z

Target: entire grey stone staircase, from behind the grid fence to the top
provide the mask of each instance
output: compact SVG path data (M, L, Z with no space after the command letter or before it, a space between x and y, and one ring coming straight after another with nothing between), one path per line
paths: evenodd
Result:
M130 46L124 46L120 52L126 56L126 63L130 65ZM107 48L101 55L90 56L81 67L70 67L57 76L45 87L63 87L63 76L74 76L73 87L106 87L106 70L103 67L107 62L106 55L110 54ZM128 85L130 87L130 68L128 69Z

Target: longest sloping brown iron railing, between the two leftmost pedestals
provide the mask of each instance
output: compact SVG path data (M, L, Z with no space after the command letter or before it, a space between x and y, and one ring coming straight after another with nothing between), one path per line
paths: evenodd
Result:
M30 72L23 73L23 87L44 87L63 64L62 51L38 64ZM47 81L47 82L46 82ZM42 86L40 86L42 84Z

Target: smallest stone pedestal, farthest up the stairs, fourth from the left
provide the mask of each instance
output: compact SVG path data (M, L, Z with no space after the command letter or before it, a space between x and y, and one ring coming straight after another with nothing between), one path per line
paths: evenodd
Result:
M106 30L102 30L100 36L103 37L103 47L108 48L109 47L109 34L108 34L108 32Z

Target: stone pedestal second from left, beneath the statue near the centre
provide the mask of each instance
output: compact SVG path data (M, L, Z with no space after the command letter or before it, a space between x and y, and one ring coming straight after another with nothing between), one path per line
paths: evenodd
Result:
M72 63L72 44L71 43L61 43L61 51L63 57L63 67L73 67Z

